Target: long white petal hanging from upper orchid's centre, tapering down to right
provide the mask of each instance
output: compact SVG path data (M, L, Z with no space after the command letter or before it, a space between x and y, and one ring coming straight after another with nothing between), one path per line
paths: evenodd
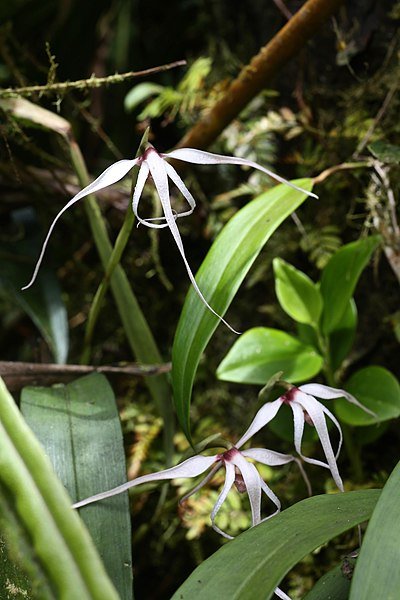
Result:
M220 319L220 321L222 321L231 331L233 331L233 333L237 333L238 335L240 335L239 331L236 331L235 329L233 329L233 327L231 327L229 325L229 323L227 321L225 321L225 319L223 317L221 317L221 315L219 315L207 302L207 300L204 298L203 294L200 291L200 288L198 287L196 280L194 278L194 275L191 271L191 268L189 266L189 263L186 259L186 254L185 254L185 250L183 247L183 243L182 243L182 238L181 238L181 234L179 233L179 229L178 226L175 222L175 218L172 212L172 208L171 208L171 203L170 203L170 197L169 197L169 188L168 188L168 178L167 178L167 171L165 168L165 164L164 161L162 160L162 158L156 153L156 152L149 152L147 158L146 158L148 167L150 169L150 173L153 177L153 181L154 181L154 185L156 186L158 195L160 197L160 201L161 201L161 205L164 211L164 215L165 215L165 219L167 221L168 227L172 233L172 236L175 240L175 243L178 247L178 250L182 256L183 262L185 264L186 267L186 271L189 275L189 279L197 293L197 295L201 298L201 300L204 302L204 304L207 306L207 308L216 316L218 317L218 319ZM148 226L150 226L149 224L147 224ZM153 225L153 227L156 227L156 225Z

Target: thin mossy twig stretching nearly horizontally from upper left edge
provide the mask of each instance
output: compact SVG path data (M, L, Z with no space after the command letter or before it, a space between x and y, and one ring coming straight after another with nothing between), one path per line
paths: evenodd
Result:
M186 60L177 60L173 63L161 65L159 67L152 67L151 69L145 69L144 71L129 71L128 73L115 73L115 75L109 75L108 77L95 77L92 75L89 79L79 79L78 81L62 81L59 83L48 83L47 85L29 85L19 88L6 88L0 89L0 96L31 96L32 94L60 94L69 90L82 90L87 88L97 88L101 85L110 85L113 83L123 83L136 77L145 77L146 75L153 75L161 71L168 71L175 67L181 67L186 65Z

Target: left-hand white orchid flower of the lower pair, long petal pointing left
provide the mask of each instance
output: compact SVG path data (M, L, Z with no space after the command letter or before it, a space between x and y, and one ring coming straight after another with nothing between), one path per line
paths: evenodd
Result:
M202 456L198 454L187 460L183 461L176 467L165 469L164 471L158 471L156 473L149 473L148 475L142 475L132 481L123 483L111 490L106 492L100 492L84 500L80 500L73 505L73 508L80 508L92 502L98 502L111 496L121 494L130 488L136 487L142 483L151 483L153 481L163 481L169 479L180 479L186 477L197 477L202 473L205 473L208 469L210 472L204 477L200 483L196 485L186 496L184 496L180 503L184 502L189 496L200 490L206 485L215 475L215 473L221 468L225 467L225 483L218 496L217 502L211 512L211 525L215 531L220 533L222 536L232 539L232 536L222 531L216 524L216 516L225 502L226 497L232 487L235 484L239 492L247 492L250 501L251 515L252 515L252 526L261 523L261 495L262 492L275 504L276 510L272 515L266 517L269 519L280 511L281 503L276 497L274 492L268 487L263 481L256 467L250 461L257 461L263 465L270 467L276 467L285 465L290 462L296 462L300 468L300 472L306 482L307 489L311 495L311 488L307 476L303 470L303 466L300 460L290 454L281 454L280 452L274 452L273 450L266 450L265 448L250 448L248 450L239 450L250 436L247 435L248 431L243 436L243 441L239 442L235 446L231 447L223 453L215 454L214 456Z

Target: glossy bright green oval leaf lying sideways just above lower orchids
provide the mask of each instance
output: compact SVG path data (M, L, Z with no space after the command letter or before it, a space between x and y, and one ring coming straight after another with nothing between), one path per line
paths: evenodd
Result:
M283 371L290 382L305 381L322 368L323 359L312 346L268 327L255 327L241 335L217 369L218 379L264 385Z

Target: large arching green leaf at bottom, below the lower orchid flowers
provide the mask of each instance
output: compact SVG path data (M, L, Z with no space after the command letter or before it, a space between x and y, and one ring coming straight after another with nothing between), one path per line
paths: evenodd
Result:
M298 502L225 544L195 569L173 600L268 600L306 554L369 519L379 493L362 490Z

